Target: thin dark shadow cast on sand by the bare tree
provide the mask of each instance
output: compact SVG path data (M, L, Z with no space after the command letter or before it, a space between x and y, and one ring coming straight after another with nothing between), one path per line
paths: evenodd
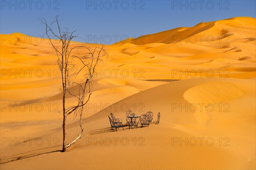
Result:
M53 146L53 147L60 147L60 146L62 146L62 145ZM41 149L38 149L38 150L44 150L44 149L48 149L48 148L52 148L52 147L45 147L45 148L41 148ZM37 150L30 150L30 151L24 152L24 153L29 153L29 152L33 152L33 151L37 151ZM38 154L35 154L35 155L32 155L32 156L18 156L18 155L24 154L24 153L19 153L19 154L14 155L15 157L0 159L0 161L1 161L0 164L6 164L6 163L9 163L9 162L13 162L13 161L18 161L18 160L22 160L22 159L26 159L26 158L31 158L31 157L34 157L34 156L39 156L39 155L48 154L48 153L55 153L55 152L61 152L61 150L54 150L54 151L50 151L50 152L38 153Z

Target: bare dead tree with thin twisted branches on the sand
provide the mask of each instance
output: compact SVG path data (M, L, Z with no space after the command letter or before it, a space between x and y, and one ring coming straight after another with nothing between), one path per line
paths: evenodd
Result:
M58 65L61 78L62 78L62 90L63 98L63 146L62 152L66 152L67 148L74 144L84 131L82 127L82 113L85 107L85 104L89 101L91 92L91 81L93 78L93 74L95 72L95 67L97 63L101 60L100 58L106 56L107 53L102 47L95 47L89 48L87 46L70 46L71 41L76 36L73 35L73 32L68 32L68 29L64 31L61 29L59 25L58 15L55 17L55 21L52 22L50 25L47 21L43 18L42 24L46 28L45 35L49 38L50 45L56 52L58 56L56 64ZM56 24L57 31L53 30L53 24ZM56 37L58 43L56 44L56 40L51 39L51 35ZM70 48L69 48L70 47ZM74 51L79 51L79 49L86 49L88 58L84 59L78 57L77 55L72 55ZM81 50L80 50L81 51ZM81 78L82 75L82 78ZM78 78L80 76L80 79ZM73 87L76 87L76 91L74 92ZM77 88L78 87L78 88ZM67 95L72 95L73 98L76 98L77 104L73 106L67 107ZM81 133L78 137L73 140L71 143L67 144L66 140L66 120L67 117L71 114L79 115L80 116L80 127Z

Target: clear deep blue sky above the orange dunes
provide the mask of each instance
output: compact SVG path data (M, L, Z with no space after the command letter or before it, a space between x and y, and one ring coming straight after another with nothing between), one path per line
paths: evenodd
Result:
M0 34L40 36L60 15L62 27L87 43L115 43L177 27L230 17L256 17L255 0L0 0ZM100 42L102 41L102 42Z

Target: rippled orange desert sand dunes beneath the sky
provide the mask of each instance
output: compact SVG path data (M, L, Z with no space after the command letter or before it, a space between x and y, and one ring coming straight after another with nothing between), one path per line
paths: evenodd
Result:
M0 169L256 169L256 19L198 23L105 45L84 133L61 153L62 93L49 40L1 35ZM90 48L101 44L72 42ZM84 51L77 51L81 58ZM72 104L73 98L67 100ZM117 132L108 115L160 112ZM79 134L70 116L67 142Z

